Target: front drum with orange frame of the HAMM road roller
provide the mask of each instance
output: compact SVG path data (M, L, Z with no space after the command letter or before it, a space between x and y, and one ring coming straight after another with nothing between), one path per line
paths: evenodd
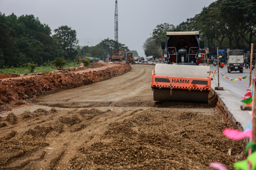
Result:
M152 73L153 74L153 73ZM168 86L173 86L171 88L157 88L156 86L166 85L166 82L156 82L155 76L163 76L170 78L170 83ZM182 80L184 78L191 78L190 84L175 84L173 79ZM195 78L195 79L193 79ZM198 79L196 79L198 78ZM152 75L154 83L152 82L154 101L171 101L171 102L193 102L193 103L208 103L208 95L211 86L210 83L206 85L192 84L192 80L198 80L201 82L210 82L210 68L209 66L190 66L190 65L163 65L156 64L154 74ZM153 81L153 80L152 80ZM168 81L169 82L169 81ZM175 88L187 87L187 88ZM193 87L198 87L199 89L192 89ZM206 90L200 90L201 88L206 88ZM188 88L191 88L190 90Z

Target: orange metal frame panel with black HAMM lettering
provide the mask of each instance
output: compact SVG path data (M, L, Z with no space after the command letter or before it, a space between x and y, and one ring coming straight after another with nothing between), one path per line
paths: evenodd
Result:
M211 75L206 78L191 78L191 77L175 77L175 76L158 76L152 72L151 88L176 88L176 89L191 89L191 90L211 90ZM156 78L164 79L166 82L157 82ZM197 83L193 83L197 82ZM204 82L203 84L200 84ZM206 84L207 83L207 84Z

